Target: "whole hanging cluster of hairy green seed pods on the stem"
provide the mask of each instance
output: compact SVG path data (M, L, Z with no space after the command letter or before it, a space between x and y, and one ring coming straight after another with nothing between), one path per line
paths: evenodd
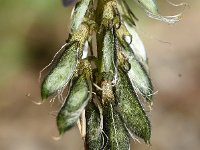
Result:
M155 19L180 19L161 16L155 0L134 2ZM150 143L144 105L151 104L153 88L137 20L126 0L79 0L65 50L42 82L42 99L68 87L57 127L63 135L78 122L87 150L129 150L131 138Z

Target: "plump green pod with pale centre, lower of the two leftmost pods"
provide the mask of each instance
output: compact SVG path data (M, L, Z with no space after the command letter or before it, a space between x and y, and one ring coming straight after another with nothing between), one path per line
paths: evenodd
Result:
M85 74L75 78L64 105L57 116L57 127L60 134L64 134L78 120L92 96L91 81Z

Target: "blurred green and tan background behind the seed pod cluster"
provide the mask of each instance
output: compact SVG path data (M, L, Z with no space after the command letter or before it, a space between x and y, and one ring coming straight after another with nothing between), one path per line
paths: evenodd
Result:
M187 2L183 18L168 25L132 6L149 57L154 96L152 146L135 150L198 150L200 147L200 1ZM161 14L183 7L159 1ZM0 0L0 150L83 150L77 128L58 136L57 103L40 106L39 71L65 43L72 7L59 0Z

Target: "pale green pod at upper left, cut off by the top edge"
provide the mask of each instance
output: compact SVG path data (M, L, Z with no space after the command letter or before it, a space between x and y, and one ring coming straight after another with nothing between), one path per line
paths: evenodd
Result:
M71 30L72 32L77 30L80 24L83 22L87 10L89 8L91 0L80 0L77 2L71 16Z

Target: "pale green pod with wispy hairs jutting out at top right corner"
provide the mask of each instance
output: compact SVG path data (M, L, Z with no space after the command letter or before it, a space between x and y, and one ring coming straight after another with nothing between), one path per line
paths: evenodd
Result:
M180 20L181 13L174 16L160 15L158 12L156 0L135 0L135 1L137 1L140 4L140 6L144 8L146 14L151 18L170 24L176 23L177 21Z

